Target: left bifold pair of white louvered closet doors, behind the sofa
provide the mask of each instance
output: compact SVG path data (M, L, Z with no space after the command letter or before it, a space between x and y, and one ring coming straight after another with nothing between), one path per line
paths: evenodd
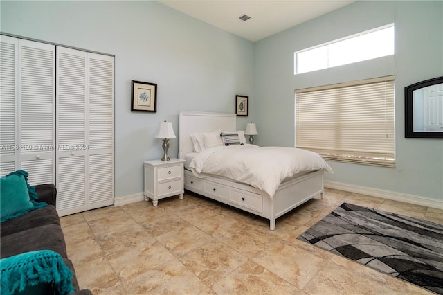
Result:
M1 175L55 181L55 46L1 36Z

